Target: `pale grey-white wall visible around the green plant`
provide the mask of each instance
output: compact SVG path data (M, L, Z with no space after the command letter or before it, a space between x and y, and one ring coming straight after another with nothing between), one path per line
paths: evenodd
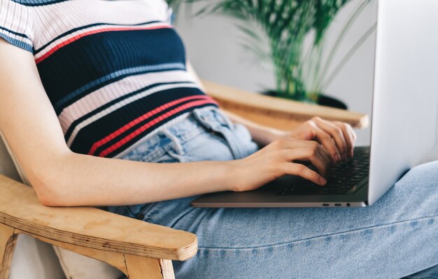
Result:
M358 0L352 0L339 13L333 24L334 34L357 4ZM199 5L202 4L195 4L192 9L197 11ZM374 0L346 36L333 64L337 64L336 61L339 61L375 21ZM234 23L229 18L217 15L192 18L182 8L175 25L185 41L188 57L202 79L255 92L274 88L275 80L271 69L263 69L257 57L241 47L241 40L245 37ZM327 43L330 45L332 41L328 40ZM324 88L327 95L346 102L349 109L369 115L372 103L374 43L375 37L371 36L346 64L337 79ZM369 129L358 131L358 136L358 144L369 144Z

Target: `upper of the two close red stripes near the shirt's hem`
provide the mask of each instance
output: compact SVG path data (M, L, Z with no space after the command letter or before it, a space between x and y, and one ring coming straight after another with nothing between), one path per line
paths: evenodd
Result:
M92 145L92 147L91 147L90 151L88 152L88 154L89 155L93 155L94 152L96 151L96 149L98 149L102 145L106 144L110 140L113 140L115 137L118 137L123 132L126 132L130 128L134 127L134 125L137 125L138 123L141 123L142 121L145 121L146 119L154 116L155 114L159 114L161 111L164 111L165 109L169 109L169 107L173 107L176 104L181 104L181 102L185 102L185 101L189 101L189 100L194 100L194 99L209 99L209 100L212 100L211 97L206 96L206 95L196 95L196 96L184 97L184 98L181 98L179 100L174 100L172 102L168 102L167 104L162 104L160 107L157 107L157 108L153 109L152 111L148 111L146 114L143 114L139 118L136 118L133 121L123 125L121 128L119 128L118 130L115 130L110 135L107 135L106 137L104 137L103 139L99 140L98 142L95 142Z

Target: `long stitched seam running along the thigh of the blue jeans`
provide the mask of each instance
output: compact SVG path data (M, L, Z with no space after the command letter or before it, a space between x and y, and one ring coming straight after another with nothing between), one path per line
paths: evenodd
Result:
M325 238L327 236L337 236L337 235L341 235L341 234L344 234L344 233L355 233L355 232L358 232L358 231L364 231L366 229L381 228L381 227L384 227L384 226L392 226L392 225L395 225L395 224L404 224L404 223L409 223L409 222L418 221L418 220L422 220L423 221L425 219L432 219L432 218L436 218L436 217L438 217L438 215L433 215L433 216L428 216L428 217L421 217L421 218L416 218L416 219L409 219L409 220L405 220L405 221L393 222L393 223L383 224L383 225L367 226L367 227L361 228L361 229L354 229L354 230L349 230L349 231L341 231L339 233L329 233L329 234L325 234L325 235L322 235L322 236L313 236L311 238L303 238L303 239L293 240L293 241L286 242L286 243L276 243L276 244L260 245L260 246L253 246L253 247L202 247L202 246L199 246L198 250L201 250L201 249L203 249L203 250L252 250L252 249L255 249L255 248L276 247L276 246L289 245L289 244L292 244L292 243L301 243L301 242L304 242L304 241L307 241L307 240L314 240L314 239L317 239L317 238Z

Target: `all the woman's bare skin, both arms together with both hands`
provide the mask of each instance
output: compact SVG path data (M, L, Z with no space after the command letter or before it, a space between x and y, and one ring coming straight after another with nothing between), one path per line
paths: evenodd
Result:
M355 135L344 123L314 118L296 130L281 132L230 117L246 125L253 139L266 147L236 161L174 164L73 153L34 57L0 39L0 129L44 205L132 205L215 191L249 191L283 175L323 185L336 154L352 155ZM297 160L311 161L319 173Z

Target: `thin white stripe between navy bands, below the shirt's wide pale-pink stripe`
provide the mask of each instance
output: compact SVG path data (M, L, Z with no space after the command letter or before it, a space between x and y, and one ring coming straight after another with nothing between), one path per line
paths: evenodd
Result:
M146 90L143 93L134 95L132 97L129 97L125 100L123 100L122 102L118 102L117 104L113 104L111 107L108 107L107 109L104 109L103 111L100 111L98 114L94 114L92 117L87 118L87 120L83 121L82 123L78 124L76 126L76 128L73 130L73 132L71 133L70 138L67 140L67 145L70 147L71 143L73 142L73 140L75 139L76 135L78 135L78 132L84 128L87 125L90 125L91 123L93 123L94 121L99 120L100 118L111 114L111 112L120 109L120 107L125 107L127 104L130 104L132 102L135 102L136 100L141 99L142 97L145 97L147 95L156 93L156 92L160 92L162 90L168 90L168 89L172 89L172 88L181 88L181 87L185 87L185 88L197 88L196 84L193 83L179 83L179 84L168 84L168 85L163 85L163 86L157 86L154 88L151 88L150 90Z

